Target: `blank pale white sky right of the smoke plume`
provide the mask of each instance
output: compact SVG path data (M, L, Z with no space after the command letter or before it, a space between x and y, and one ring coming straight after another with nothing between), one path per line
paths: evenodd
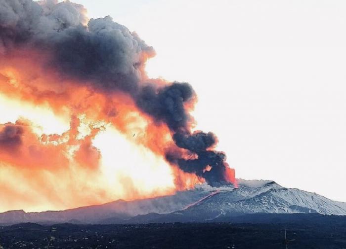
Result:
M193 85L238 178L346 202L344 0L74 1L154 46L149 76Z

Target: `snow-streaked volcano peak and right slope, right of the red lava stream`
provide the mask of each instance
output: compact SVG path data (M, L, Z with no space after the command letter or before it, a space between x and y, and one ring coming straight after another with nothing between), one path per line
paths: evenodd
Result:
M274 181L240 181L239 188L215 189L217 194L177 215L205 217L246 213L321 213L346 215L345 203L335 202L315 193L285 188Z

